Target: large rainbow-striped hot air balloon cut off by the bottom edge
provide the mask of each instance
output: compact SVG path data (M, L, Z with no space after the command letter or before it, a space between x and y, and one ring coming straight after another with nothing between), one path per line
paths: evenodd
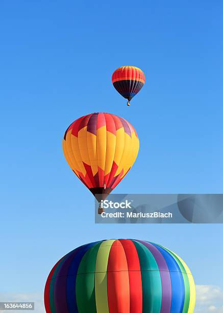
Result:
M192 313L195 285L185 262L159 244L103 240L56 263L44 303L46 313Z

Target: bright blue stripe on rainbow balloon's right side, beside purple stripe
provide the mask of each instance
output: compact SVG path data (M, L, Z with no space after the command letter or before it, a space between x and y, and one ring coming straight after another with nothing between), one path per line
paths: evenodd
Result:
M172 286L172 298L171 298L171 309L170 312L182 312L184 307L185 299L185 287L184 279L181 273L180 267L174 257L171 256L165 249L159 245L150 242L154 245L163 255L166 264L169 269L171 286Z

